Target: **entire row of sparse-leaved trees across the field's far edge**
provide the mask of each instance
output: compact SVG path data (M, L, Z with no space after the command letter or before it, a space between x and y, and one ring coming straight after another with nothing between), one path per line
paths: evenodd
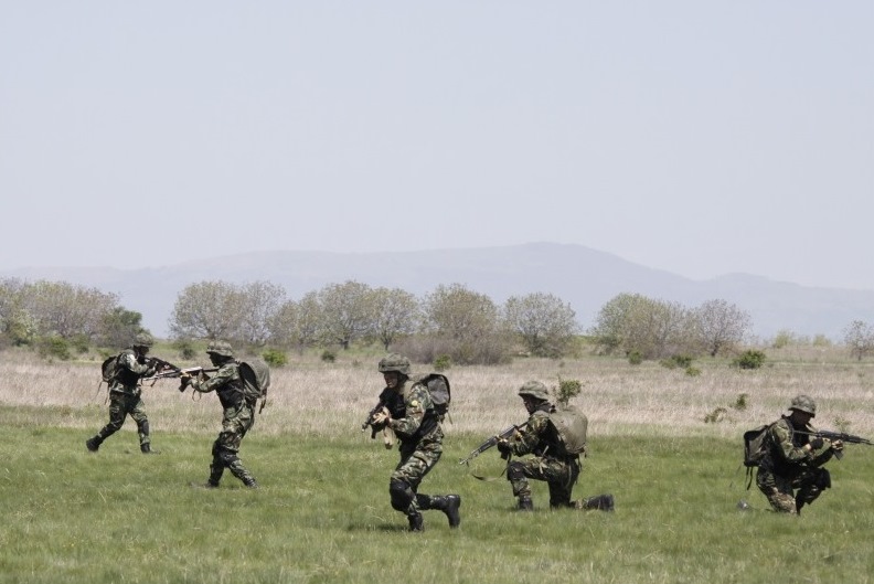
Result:
M725 355L744 343L752 319L721 299L686 307L620 294L583 331L571 306L547 293L499 305L461 284L417 297L349 280L290 299L268 282L201 282L179 293L168 326L181 347L201 339L281 351L377 343L419 362L490 364L519 353L569 355L582 335L600 352L632 362ZM120 306L114 294L64 282L0 280L0 348L29 346L67 358L88 347L125 347L142 330L142 316ZM853 357L874 353L874 327L853 321L844 341Z

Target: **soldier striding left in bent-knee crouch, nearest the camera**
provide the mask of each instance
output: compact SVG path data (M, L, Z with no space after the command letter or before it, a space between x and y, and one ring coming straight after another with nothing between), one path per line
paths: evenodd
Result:
M373 417L375 429L388 428L398 437L401 463L388 480L392 507L406 514L411 531L422 531L422 511L437 509L446 513L450 528L461 524L458 495L422 495L419 484L443 454L444 433L440 417L427 386L412 381L409 360L399 354L383 358L379 368L385 380L385 407Z

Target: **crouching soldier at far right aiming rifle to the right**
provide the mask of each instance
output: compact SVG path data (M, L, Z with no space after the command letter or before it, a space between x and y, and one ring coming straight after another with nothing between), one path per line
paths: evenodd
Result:
M822 465L843 449L843 443L811 435L817 404L808 395L793 397L789 411L768 428L768 448L756 485L775 511L800 513L831 487L831 476Z

